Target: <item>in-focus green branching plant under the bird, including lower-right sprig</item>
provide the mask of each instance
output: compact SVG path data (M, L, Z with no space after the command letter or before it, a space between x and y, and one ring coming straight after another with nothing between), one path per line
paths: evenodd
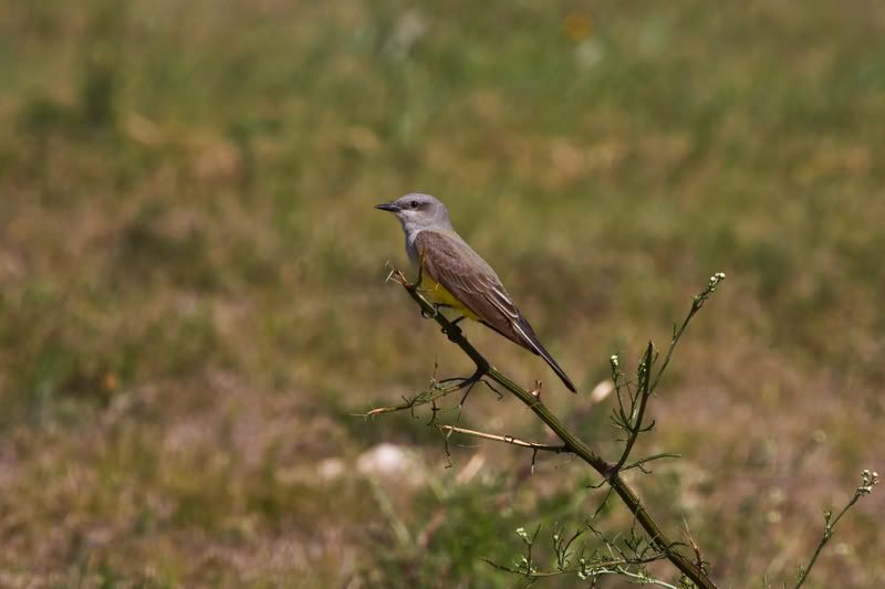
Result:
M716 291L717 286L725 280L726 275L721 272L714 274L707 287L704 292L693 297L691 307L681 323L681 325L676 326L674 325L673 329L673 337L670 339L669 347L667 349L666 355L664 356L664 361L658 367L657 374L652 377L654 365L657 361L658 355L655 350L654 345L649 341L648 346L646 347L645 354L643 355L643 359L637 368L636 376L637 382L633 386L629 381L624 380L624 374L621 371L620 368L620 358L617 355L612 356L611 364L612 364L612 379L614 381L614 387L617 392L617 408L614 411L613 421L615 427L618 429L624 430L627 433L627 438L624 440L624 450L616 463L610 463L604 460L602 456L596 454L592 449L590 449L583 441L577 439L573 433L565 429L562 422L554 417L546 406L541 401L541 383L540 381L535 382L534 388L531 391L528 391L516 382L510 380L503 374L499 372L496 368L493 368L486 358L467 340L461 332L460 327L458 327L458 320L449 322L441 313L438 312L434 305L427 302L427 299L421 295L420 290L415 286L414 284L409 283L406 280L406 276L398 270L392 270L391 274L388 275L388 280L393 278L395 282L399 283L412 296L412 298L418 304L421 309L421 315L427 318L435 319L441 327L442 333L449 338L450 341L456 344L461 350L470 357L471 360L476 364L476 371L467 378L448 378L437 381L436 378L430 382L428 389L416 393L412 398L403 398L403 402L395 407L382 407L377 409L373 409L368 413L365 413L364 417L376 417L378 414L394 412L394 411L405 411L408 410L415 416L415 409L417 407L424 404L431 406L431 418L428 424L436 425L439 428L440 431L444 432L446 435L446 443L448 444L448 438L452 433L458 433L462 435L470 435L473 438L479 438L483 440L491 440L502 443L509 443L512 445L527 448L532 450L532 467L534 466L534 459L539 451L548 451L548 452L555 452L562 453L568 452L577 455L584 462L590 464L596 472L603 475L603 481L600 485L607 483L610 485L608 493L603 499L603 503L600 505L596 513L593 515L595 517L598 513L604 508L607 504L608 498L612 494L617 494L622 502L627 506L627 508L634 515L634 523L638 523L639 526L645 530L648 535L647 545L645 545L645 549L639 550L638 547L642 545L641 540L635 536L635 532L631 529L631 537L632 540L626 541L627 548L633 550L633 555L627 555L624 550L615 546L614 543L602 536L596 529L593 528L591 524L587 524L587 527L591 532L596 534L603 541L603 544L608 548L610 557L608 559L602 558L596 555L591 560L587 560L583 555L583 548L576 559L573 561L574 550L570 547L572 544L583 534L584 530L579 530L574 533L571 537L565 539L561 536L560 532L554 532L553 536L553 547L554 551L556 553L556 570L554 571L541 571L534 567L533 557L532 557L532 546L534 544L535 538L538 537L538 533L540 532L540 526L535 530L534 535L529 538L528 534L524 533L522 528L518 529L517 533L522 537L523 541L527 545L527 556L524 556L521 562L517 564L516 568L507 567L502 565L498 565L490 560L486 560L489 565L504 570L514 575L521 575L528 577L532 580L542 577L552 577L558 575L564 574L577 574L581 579L591 580L592 582L600 576L604 575L618 575L622 577L627 578L631 582L641 583L641 585L657 585L660 587L667 587L676 589L676 586L650 577L646 569L645 565L656 560L667 559L669 560L683 575L683 579L680 581L680 587L685 586L686 582L690 581L696 587L699 588L716 588L714 581L709 578L707 572L707 564L704 561L701 556L700 549L698 548L695 540L691 538L690 534L688 533L686 526L686 535L689 540L689 547L694 553L694 560L683 554L679 550L680 546L687 546L684 543L677 543L669 539L669 537L660 529L658 524L655 519L648 514L648 512L643 506L639 498L633 492L633 490L624 482L621 477L621 473L631 469L638 469L644 473L649 472L645 469L645 464L648 462L660 460L665 457L679 457L679 454L671 454L671 453L659 453L654 454L650 456L645 456L634 462L627 463L629 459L629 454L633 451L633 448L636 443L636 440L642 433L645 433L654 428L654 421L650 424L645 424L645 412L646 407L648 403L648 399L652 395L655 393L660 379L669 366L670 359L673 357L673 353L678 344L680 337L685 333L688 323L691 318L700 311L704 306L705 302L709 298L709 296ZM436 371L435 371L436 372ZM508 392L517 397L520 401L529 407L538 417L541 419L559 438L562 440L562 444L540 444L535 442L528 442L523 440L519 440L511 435L499 435L493 433L487 433L476 430L469 430L466 428L458 428L455 425L438 425L436 423L437 412L440 410L436 401L441 399L452 392L466 390L461 401L459 403L459 411L460 408L464 406L467 396L469 395L470 390L472 390L473 386L477 382L482 382L491 390L493 390L499 397L502 396L501 391L498 387L506 389ZM493 385L493 383L494 385ZM498 385L498 387L496 387ZM626 402L624 397L626 396ZM460 414L460 413L459 413ZM448 452L448 445L447 445ZM851 499L848 499L847 504L842 508L842 511L835 516L832 516L832 512L826 511L824 513L824 534L818 544L814 554L811 557L808 566L800 567L799 576L796 583L794 586L795 589L800 589L802 585L809 577L812 567L818 560L822 549L824 546L830 541L835 532L836 524L842 519L845 513L854 506L857 501L864 496L868 495L873 491L873 486L878 483L878 474L876 472L871 472L865 470L862 473L862 483L855 490L854 495ZM592 518L593 518L592 517ZM591 519L592 519L591 518ZM574 565L576 562L576 565Z

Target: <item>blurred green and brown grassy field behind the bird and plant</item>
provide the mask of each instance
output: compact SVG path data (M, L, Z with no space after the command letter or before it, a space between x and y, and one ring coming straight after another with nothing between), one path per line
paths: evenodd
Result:
M684 457L632 481L722 586L789 582L885 470L883 39L860 0L4 1L0 585L511 587L479 557L579 527L573 460L353 416L469 369L385 283L410 190L582 395L469 336L610 456L610 355L728 274L637 450ZM813 587L885 580L883 507Z

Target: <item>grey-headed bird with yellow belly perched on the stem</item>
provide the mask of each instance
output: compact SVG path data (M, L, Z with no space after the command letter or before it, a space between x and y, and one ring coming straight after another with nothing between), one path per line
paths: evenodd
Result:
M375 208L396 214L403 224L408 257L421 266L418 287L430 302L454 308L541 356L569 390L577 392L538 341L498 274L455 232L445 204L430 194L412 192Z

